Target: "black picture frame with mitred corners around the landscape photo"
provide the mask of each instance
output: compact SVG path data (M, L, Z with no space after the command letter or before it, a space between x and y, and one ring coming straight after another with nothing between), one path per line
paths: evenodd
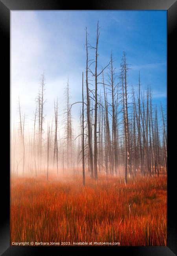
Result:
M87 6L84 3L72 2L67 4L66 1L59 0L0 0L0 36L1 36L1 98L8 98L10 95L10 11L11 10L167 10L168 15L168 49L167 49L167 115L168 115L168 240L166 247L14 247L10 246L9 239L9 201L10 201L10 174L9 174L9 126L2 126L2 163L4 167L1 171L1 228L0 228L0 254L3 256L32 256L42 253L49 255L59 255L63 253L77 255L87 255L90 253L116 253L119 255L127 253L128 255L151 255L151 256L173 256L177 255L177 211L175 210L175 150L171 150L173 145L172 136L175 134L175 124L173 125L172 112L175 106L175 93L173 88L176 85L176 59L175 59L175 32L177 25L177 2L175 0L102 0L100 2L89 1ZM3 81L3 82L2 82ZM9 122L9 106L2 105L1 117L3 123ZM9 112L8 112L9 111ZM8 113L7 113L8 112ZM171 121L170 121L171 120ZM5 150L5 146L7 149ZM174 162L173 162L174 161ZM1 186L2 187L2 186ZM113 252L114 250L114 252Z

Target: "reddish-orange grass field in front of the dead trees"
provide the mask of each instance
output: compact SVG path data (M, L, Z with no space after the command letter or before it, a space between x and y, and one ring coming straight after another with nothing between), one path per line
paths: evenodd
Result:
M85 187L81 176L60 177L11 178L11 245L167 245L166 177L137 176L127 186L123 178L122 184L116 177L106 183L99 176L96 184L86 177Z

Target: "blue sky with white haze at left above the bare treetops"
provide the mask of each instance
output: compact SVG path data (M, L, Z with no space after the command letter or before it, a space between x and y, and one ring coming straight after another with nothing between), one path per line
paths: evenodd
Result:
M120 72L122 52L129 63L128 85L151 85L153 104L166 108L167 101L167 12L166 11L11 11L11 122L18 124L18 96L26 127L35 112L39 78L44 71L46 122L54 116L53 99L59 112L65 107L64 87L70 85L70 103L81 100L82 72L85 72L85 28L92 46L99 20L98 70L115 59ZM94 58L90 50L89 58ZM94 68L94 67L93 67ZM106 71L105 71L106 73ZM98 89L99 91L100 89ZM78 123L79 104L72 108ZM62 116L59 117L59 122Z

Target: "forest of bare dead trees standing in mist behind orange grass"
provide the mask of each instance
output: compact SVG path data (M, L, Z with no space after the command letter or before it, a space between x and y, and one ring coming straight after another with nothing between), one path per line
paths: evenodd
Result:
M85 67L81 74L79 102L71 102L70 87L65 87L65 109L53 100L53 118L44 128L45 74L41 75L35 98L33 126L25 130L26 116L18 98L19 122L11 131L11 173L19 175L72 172L98 180L98 173L120 176L127 184L136 175L164 176L167 173L166 111L152 103L151 87L142 90L140 72L136 90L129 84L130 65L125 52L121 60L110 59L105 67L99 60L100 27L94 45L85 29ZM93 56L93 58L89 58ZM119 63L120 64L119 64ZM101 69L100 69L101 67ZM138 89L137 89L138 88ZM59 87L60 90L60 87ZM56 92L57 93L57 92ZM72 121L73 105L79 105L79 129ZM32 110L31 110L32 111ZM59 115L63 121L59 122Z

